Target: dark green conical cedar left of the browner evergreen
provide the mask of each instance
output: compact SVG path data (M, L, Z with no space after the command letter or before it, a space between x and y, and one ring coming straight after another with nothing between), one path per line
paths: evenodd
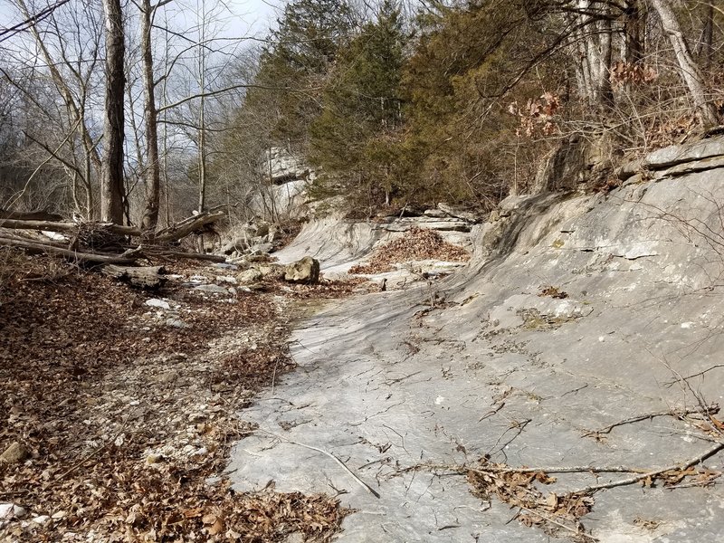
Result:
M400 80L405 61L400 9L385 0L376 21L338 54L311 125L311 160L322 183L357 192L366 204L395 193L395 131L401 125ZM358 199L358 198L357 198Z

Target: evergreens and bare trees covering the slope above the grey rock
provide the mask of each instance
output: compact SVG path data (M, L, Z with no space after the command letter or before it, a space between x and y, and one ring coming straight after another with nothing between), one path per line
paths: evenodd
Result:
M641 154L716 125L723 22L714 3L672 0L296 0L214 171L251 176L244 149L281 147L317 168L313 195L358 214L490 208L571 135Z

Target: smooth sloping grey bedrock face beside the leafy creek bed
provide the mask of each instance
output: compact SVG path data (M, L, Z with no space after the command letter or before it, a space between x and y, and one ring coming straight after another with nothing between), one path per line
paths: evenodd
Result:
M242 414L283 435L239 445L238 485L345 489L358 511L343 541L547 541L578 528L550 509L567 529L545 511L529 515L533 528L510 522L515 503L492 487L472 496L443 466L691 461L680 488L654 476L597 491L579 520L600 541L719 540L724 491L703 488L702 473L724 456L704 461L710 472L697 461L722 438L697 411L724 389L724 151L697 145L706 157L670 148L645 170L621 168L624 185L605 195L511 197L475 227L472 261L450 278L310 319L294 337L300 370ZM381 498L295 443L343 458ZM546 500L631 476L564 473L538 487Z

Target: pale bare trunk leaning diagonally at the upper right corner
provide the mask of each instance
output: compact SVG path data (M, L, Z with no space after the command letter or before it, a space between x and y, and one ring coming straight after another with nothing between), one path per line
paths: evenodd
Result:
M691 100L701 116L701 124L705 129L716 126L717 111L714 105L707 100L704 76L701 73L699 64L694 61L691 55L689 43L686 41L679 19L673 11L670 0L651 0L653 9L659 14L662 21L663 32L668 34L672 42L673 51L676 54L676 62L679 64L681 79L686 83L691 94Z

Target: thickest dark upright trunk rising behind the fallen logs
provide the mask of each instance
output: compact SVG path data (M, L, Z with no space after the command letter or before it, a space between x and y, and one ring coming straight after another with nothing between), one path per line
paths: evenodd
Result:
M103 165L100 174L100 218L123 223L123 138L126 51L120 0L103 0L106 22L106 110Z

